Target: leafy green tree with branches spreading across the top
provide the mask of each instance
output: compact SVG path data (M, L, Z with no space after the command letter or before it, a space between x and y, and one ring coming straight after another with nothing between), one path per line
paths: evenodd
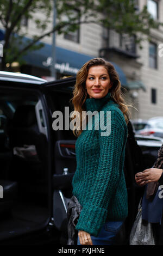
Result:
M53 32L60 34L75 31L82 23L98 23L130 36L137 34L136 42L139 45L143 40L142 34L146 34L149 39L150 29L162 25L153 20L146 6L142 11L137 10L135 0L55 0L57 22L55 27L48 30L50 22L52 26L53 1L0 0L0 25L4 30L2 70L5 70L6 63L22 63L24 54L41 48L43 44L40 40L45 36ZM74 15L74 10L79 10L78 15ZM43 13L44 19L36 17L36 13ZM39 35L24 40L28 31L22 27L23 19L33 22Z

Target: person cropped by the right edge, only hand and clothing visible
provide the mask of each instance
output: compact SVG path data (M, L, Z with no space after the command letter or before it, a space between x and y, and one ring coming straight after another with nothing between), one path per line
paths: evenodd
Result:
M145 193L142 200L142 219L153 224L156 245L162 245L163 222L162 222L162 187L163 184L163 144L158 151L158 159L152 168L136 173L135 181L137 185L144 186Z

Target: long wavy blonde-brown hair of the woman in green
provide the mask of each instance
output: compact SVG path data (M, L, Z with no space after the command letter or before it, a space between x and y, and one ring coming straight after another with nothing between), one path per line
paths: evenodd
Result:
M86 62L82 66L82 68L78 71L76 84L73 90L73 97L70 100L70 102L72 102L72 105L74 107L71 120L73 120L74 118L75 119L79 118L80 120L80 125L77 125L78 123L77 122L76 125L74 125L73 127L73 134L76 137L78 137L82 133L82 120L83 120L82 111L85 111L84 103L87 97L89 97L85 88L85 82L91 66L104 66L105 69L108 71L110 81L112 83L112 87L109 89L109 92L111 93L111 97L119 105L119 108L121 109L127 124L129 121L130 111L128 109L128 105L123 99L123 95L121 91L121 82L114 66L110 62L106 62L106 60L104 60L103 58L91 59L88 62ZM83 114L84 113L85 112L83 112Z

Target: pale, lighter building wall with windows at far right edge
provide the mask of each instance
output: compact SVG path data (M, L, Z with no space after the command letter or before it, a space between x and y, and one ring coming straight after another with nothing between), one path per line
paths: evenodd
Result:
M140 1L142 8L145 0ZM154 19L163 22L163 1L148 0L148 8ZM161 44L163 43L163 27L151 31L151 41L143 41L143 49L138 49L142 64L141 81L146 85L146 92L139 91L139 117L148 119L163 116L163 56Z

